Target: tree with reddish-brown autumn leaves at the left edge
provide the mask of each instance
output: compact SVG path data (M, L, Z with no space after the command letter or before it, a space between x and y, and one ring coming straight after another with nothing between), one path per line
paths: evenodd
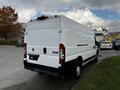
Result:
M0 36L8 39L20 35L20 24L17 22L18 14L10 6L0 8Z

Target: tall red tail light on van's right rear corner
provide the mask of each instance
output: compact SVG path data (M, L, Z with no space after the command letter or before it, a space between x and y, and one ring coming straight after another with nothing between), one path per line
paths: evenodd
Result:
M64 44L59 44L59 63L63 64L65 62L65 46Z

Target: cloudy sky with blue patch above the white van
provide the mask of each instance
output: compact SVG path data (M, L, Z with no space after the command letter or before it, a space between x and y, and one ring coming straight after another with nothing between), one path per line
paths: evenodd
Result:
M19 22L43 14L62 14L94 27L120 30L120 0L0 0L0 7L12 6Z

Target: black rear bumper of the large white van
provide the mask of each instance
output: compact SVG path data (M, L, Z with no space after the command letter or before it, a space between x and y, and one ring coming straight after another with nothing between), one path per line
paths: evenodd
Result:
M49 74L49 75L54 75L54 76L63 75L63 73L64 73L64 69L62 67L53 68L53 67L48 67L48 66L29 63L25 60L23 62L24 62L24 68L25 69L36 71L38 73L42 72L42 73Z

